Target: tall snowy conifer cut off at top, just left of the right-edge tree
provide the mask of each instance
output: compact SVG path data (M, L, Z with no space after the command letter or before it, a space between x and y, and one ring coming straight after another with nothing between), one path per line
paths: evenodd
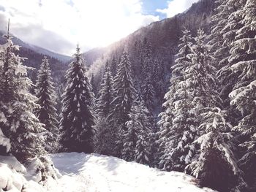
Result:
M220 1L222 4L217 9L216 20L219 18L219 23L215 26L213 33L219 37L220 43L223 40L222 45L215 46L216 51L214 53L214 62L217 64L217 78L219 80L219 92L223 100L223 107L227 111L227 120L233 125L238 123L238 119L241 118L236 108L230 106L229 93L233 90L233 87L238 81L238 73L234 73L231 70L230 57L231 44L236 37L236 32L241 28L241 15L238 13L239 10L244 6L244 0L225 0ZM218 30L220 29L220 31ZM219 34L219 35L217 35Z

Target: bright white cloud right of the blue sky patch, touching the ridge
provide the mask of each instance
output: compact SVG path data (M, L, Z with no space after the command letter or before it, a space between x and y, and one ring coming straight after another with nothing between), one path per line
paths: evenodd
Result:
M166 9L157 9L157 12L161 12L167 15L167 18L171 18L178 13L186 11L191 5L198 0L173 0L168 1L168 7Z

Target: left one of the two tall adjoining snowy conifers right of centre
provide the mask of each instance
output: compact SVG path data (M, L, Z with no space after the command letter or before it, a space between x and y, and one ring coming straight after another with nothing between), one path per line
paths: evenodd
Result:
M191 61L191 47L192 47L192 37L190 31L184 30L184 35L181 37L181 43L178 45L180 48L176 64L172 66L172 77L170 78L170 91L165 94L165 103L163 107L165 111L159 114L161 120L158 122L160 126L160 131L158 133L158 145L159 145L159 168L170 171L173 169L173 164L178 164L177 162L171 161L171 154L173 153L173 147L178 145L179 140L183 137L184 130L176 130L177 126L173 128L173 119L175 118L174 112L175 103L179 99L188 99L184 98L184 93L186 93L186 86L181 86L182 82L184 82L187 78L185 73L187 72L187 67L192 62ZM178 94L183 93L183 96L179 96ZM182 101L182 100L181 100ZM190 101L186 101L187 104L191 104ZM184 107L184 106L180 106ZM177 123L177 122L176 122Z

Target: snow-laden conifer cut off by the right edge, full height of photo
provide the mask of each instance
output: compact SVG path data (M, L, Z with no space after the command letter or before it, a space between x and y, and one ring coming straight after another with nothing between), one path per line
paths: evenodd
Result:
M238 10L242 17L241 28L236 31L235 41L231 44L230 65L238 80L230 93L230 104L241 112L242 119L234 127L240 137L243 150L239 161L245 173L246 183L251 191L256 190L256 7L255 1L247 0Z

